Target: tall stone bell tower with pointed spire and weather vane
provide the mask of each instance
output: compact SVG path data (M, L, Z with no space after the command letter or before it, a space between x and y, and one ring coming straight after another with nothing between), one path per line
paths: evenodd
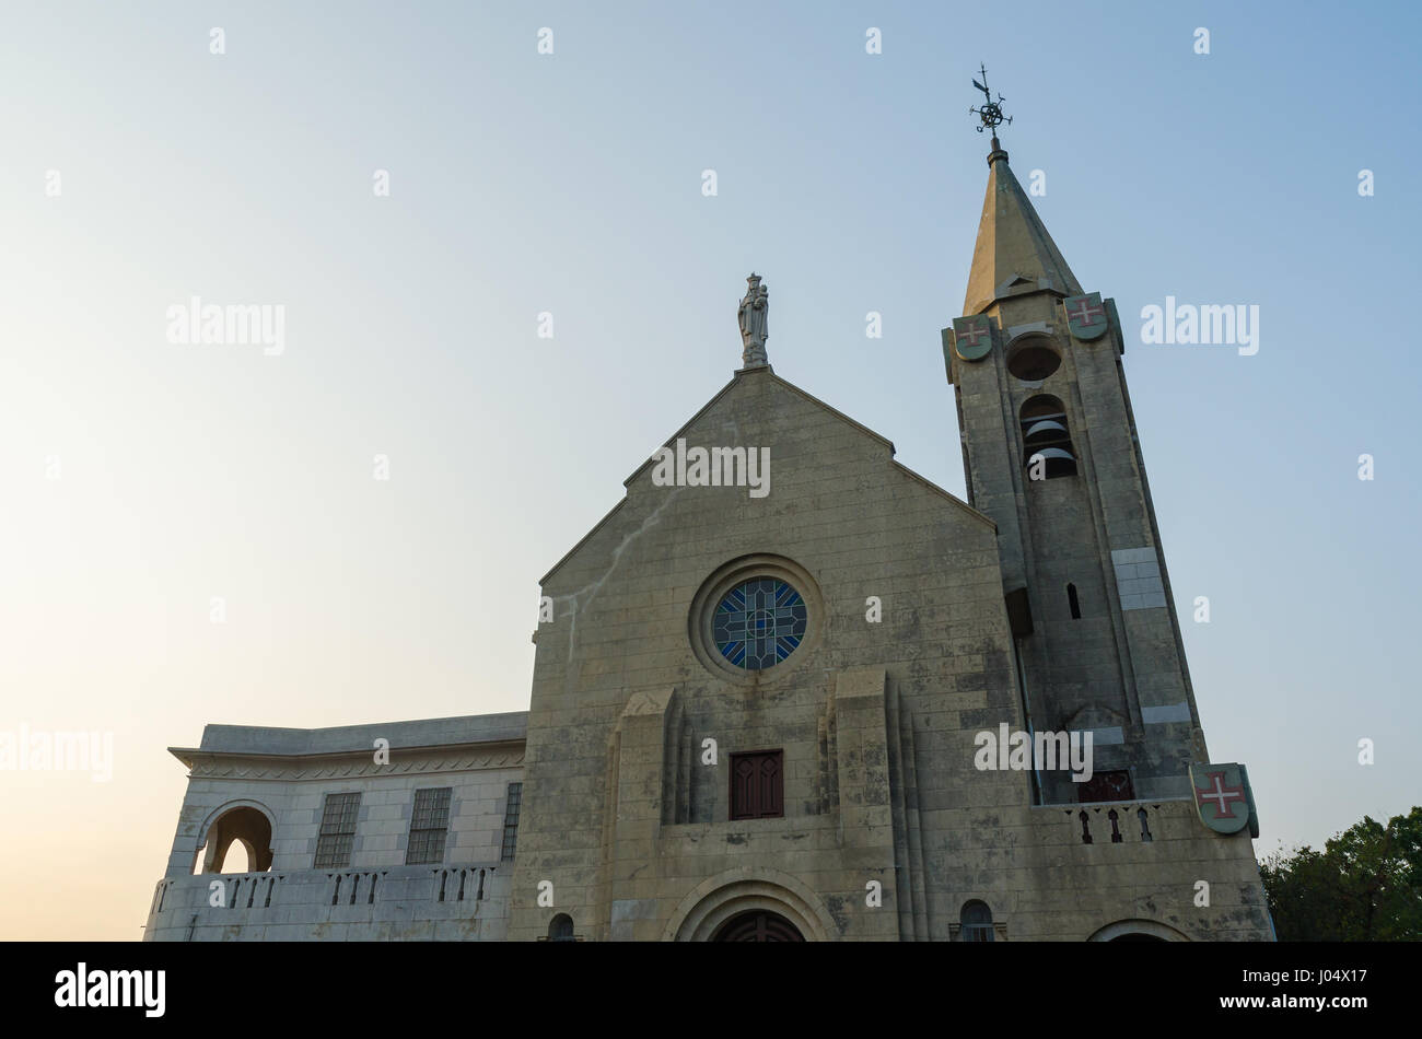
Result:
M984 75L985 84L985 75ZM974 81L987 94L984 84ZM1095 776L1038 803L1186 796L1209 760L1112 300L1082 290L993 131L963 316L943 330L968 502L997 522L1034 732L1091 731Z

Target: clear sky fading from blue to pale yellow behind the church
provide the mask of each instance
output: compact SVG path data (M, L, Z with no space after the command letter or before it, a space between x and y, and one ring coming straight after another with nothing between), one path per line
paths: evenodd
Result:
M1253 357L1125 358L1257 850L1405 812L1418 11L9 4L0 731L112 733L114 759L0 772L0 937L141 937L185 785L165 748L206 722L525 709L539 577L739 365L752 269L776 372L964 495L939 330L987 179L980 63L1128 333L1166 296L1260 307ZM282 352L171 343L193 296L283 306Z

